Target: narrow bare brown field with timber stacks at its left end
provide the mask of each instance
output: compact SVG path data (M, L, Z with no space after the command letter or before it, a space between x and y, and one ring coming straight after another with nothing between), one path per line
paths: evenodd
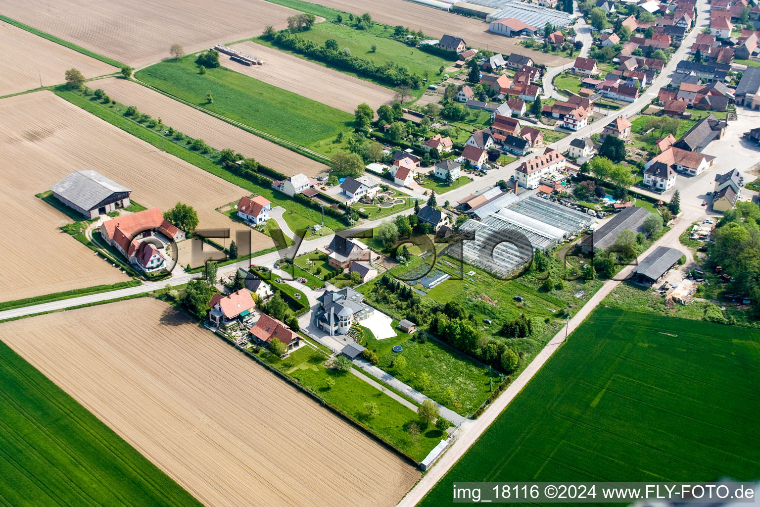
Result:
M287 52L250 41L235 44L233 47L264 60L266 64L247 67L228 58L220 58L219 61L226 68L248 74L336 109L353 114L359 103L366 102L375 110L383 104L393 102L394 91L389 88L334 71Z

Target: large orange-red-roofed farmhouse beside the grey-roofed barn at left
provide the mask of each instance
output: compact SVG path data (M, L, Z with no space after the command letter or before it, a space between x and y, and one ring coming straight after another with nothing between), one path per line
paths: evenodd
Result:
M160 208L150 208L106 220L100 224L100 235L106 242L119 250L130 264L136 265L146 272L163 268L163 256L159 260L155 255L157 251L153 252L147 246L142 246L140 239L158 236L164 243L172 240L179 242L185 239L185 233L182 230L163 220ZM164 237L160 238L160 236ZM150 255L147 255L148 253Z

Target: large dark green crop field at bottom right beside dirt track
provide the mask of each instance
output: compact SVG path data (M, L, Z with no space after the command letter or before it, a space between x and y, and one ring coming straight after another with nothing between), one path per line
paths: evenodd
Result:
M755 480L758 382L754 330L597 309L420 505L454 480Z

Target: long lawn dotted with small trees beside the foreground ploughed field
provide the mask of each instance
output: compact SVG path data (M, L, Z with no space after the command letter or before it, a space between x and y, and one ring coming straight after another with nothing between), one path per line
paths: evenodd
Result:
M327 356L309 346L296 350L285 360L271 356L266 350L261 350L259 356L417 461L422 461L441 441L442 432L431 426L423 429L416 442L412 442L407 428L415 422L420 425L417 414L413 410L351 372L340 373L328 369L324 365ZM264 356L267 357L264 358ZM332 388L327 386L328 379L333 379L335 382ZM377 417L366 416L365 402L374 402L378 405ZM420 428L423 426L420 425Z

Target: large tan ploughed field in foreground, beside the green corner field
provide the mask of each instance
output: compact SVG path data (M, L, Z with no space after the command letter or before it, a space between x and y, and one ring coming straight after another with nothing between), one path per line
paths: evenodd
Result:
M40 329L55 347L40 347ZM420 477L156 299L5 322L0 334L207 507L391 507Z

